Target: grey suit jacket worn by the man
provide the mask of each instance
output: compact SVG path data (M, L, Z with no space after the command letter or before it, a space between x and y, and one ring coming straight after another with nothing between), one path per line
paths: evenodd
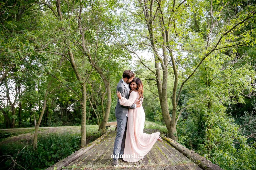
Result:
M125 88L122 79L117 84L116 91L120 91L122 97L129 99L129 91L127 91L127 89ZM128 113L129 108L134 109L135 104L132 104L131 106L122 106L119 102L119 98L117 98L117 104L115 107L115 117L118 119L124 119L126 117L126 114Z

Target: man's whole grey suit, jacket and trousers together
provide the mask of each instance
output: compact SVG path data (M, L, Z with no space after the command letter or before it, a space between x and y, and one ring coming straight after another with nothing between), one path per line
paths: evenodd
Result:
M129 91L125 88L122 79L119 81L116 87L117 91L120 91L121 95L126 99L129 98ZM117 104L115 107L115 117L117 122L117 132L115 137L114 143L114 155L122 155L124 153L124 146L125 146L125 136L126 136L126 129L127 129L127 116L128 109L134 109L135 104L132 106L122 106L119 103L119 98L117 99Z

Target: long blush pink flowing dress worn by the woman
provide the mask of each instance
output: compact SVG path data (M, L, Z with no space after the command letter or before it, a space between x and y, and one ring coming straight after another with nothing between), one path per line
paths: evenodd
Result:
M128 100L125 97L122 97L119 99L119 102L123 106L131 106L138 100L138 92L132 91ZM124 161L137 162L143 159L157 141L160 132L152 134L143 133L144 123L145 112L142 106L135 109L129 109L123 154Z

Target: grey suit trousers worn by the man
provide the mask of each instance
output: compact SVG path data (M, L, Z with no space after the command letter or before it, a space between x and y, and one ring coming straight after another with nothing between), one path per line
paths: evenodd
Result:
M115 159L117 159L118 156L120 157L120 155L124 154L127 120L128 120L127 116L125 116L124 119L116 118L117 132L116 132L114 151L113 151L113 155L115 155Z

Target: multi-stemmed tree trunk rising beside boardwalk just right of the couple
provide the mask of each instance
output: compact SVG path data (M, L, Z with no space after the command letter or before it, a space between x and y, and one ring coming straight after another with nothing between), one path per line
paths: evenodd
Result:
M163 38L162 42L162 52L163 52L163 58L159 56L159 49L156 47L156 42L155 42L155 37L154 37L154 22L156 21L156 18L153 17L152 15L152 6L154 4L154 1L150 2L150 5L147 4L147 1L139 1L139 4L144 12L144 17L146 20L146 25L150 37L150 43L152 46L152 51L154 54L154 59L155 59L155 77L156 77L156 84L157 84L157 90L159 94L159 100L160 100L160 105L161 105L161 110L162 110L162 115L164 118L164 122L166 125L166 128L168 130L168 136L172 138L173 140L178 140L177 136L177 130L176 130L176 91L177 91L177 83L178 83L178 73L176 70L176 65L174 61L174 57L172 55L172 51L170 47L168 46L168 40L169 40L169 33L168 30L166 30L166 25L163 16L159 18L159 22L161 25L161 34ZM150 6L150 8L147 8ZM158 3L159 11L162 12L161 9L161 4ZM150 12L150 13L149 13ZM168 25L169 26L169 25ZM169 50L169 53L167 53L167 48ZM168 55L171 56L172 59L172 66L174 70L174 75L175 75L175 81L174 81L174 88L173 88L173 96L172 96L172 117L170 117L169 114L169 107L168 107L168 102L167 102L167 80L168 80ZM161 73L160 73L160 67L159 64L161 65L162 73L163 73L163 79L161 81ZM153 70L151 70L153 72Z

